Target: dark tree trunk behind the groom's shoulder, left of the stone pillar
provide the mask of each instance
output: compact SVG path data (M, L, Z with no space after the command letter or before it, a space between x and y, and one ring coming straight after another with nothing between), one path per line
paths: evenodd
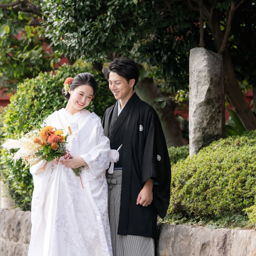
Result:
M163 98L163 95L158 90L153 80L149 78L144 78L144 80L139 82L135 86L135 90L142 100L150 104L156 110L162 124L167 147L186 145L181 135L179 122L174 116L176 103L168 99L166 100L166 106L161 108L160 104L155 102L154 99L158 97Z

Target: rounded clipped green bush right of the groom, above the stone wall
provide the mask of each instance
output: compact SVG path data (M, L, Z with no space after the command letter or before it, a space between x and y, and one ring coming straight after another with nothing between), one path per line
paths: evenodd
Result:
M245 214L256 192L256 131L230 136L172 166L168 214Z

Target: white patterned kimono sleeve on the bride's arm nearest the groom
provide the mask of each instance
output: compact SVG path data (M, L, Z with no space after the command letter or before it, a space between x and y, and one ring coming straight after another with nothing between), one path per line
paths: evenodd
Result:
M87 170L96 178L105 173L109 167L110 142L103 134L100 120L94 125L88 140L86 154L79 155L88 164Z

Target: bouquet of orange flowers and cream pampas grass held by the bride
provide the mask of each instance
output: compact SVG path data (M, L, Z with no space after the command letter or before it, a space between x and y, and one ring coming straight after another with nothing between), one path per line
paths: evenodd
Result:
M22 133L17 140L8 139L2 145L3 148L10 150L18 148L16 153L13 153L11 158L16 161L22 159L25 166L36 163L42 159L52 161L55 158L63 156L65 159L72 158L71 152L66 148L66 136L62 130L56 130L52 126L35 129L27 134ZM84 166L81 166L82 168ZM72 168L76 176L80 176L80 168Z

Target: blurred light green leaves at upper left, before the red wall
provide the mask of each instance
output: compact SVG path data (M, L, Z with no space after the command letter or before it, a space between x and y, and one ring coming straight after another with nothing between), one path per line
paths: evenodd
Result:
M44 28L33 24L30 15L12 8L0 10L0 88L11 90L24 78L53 70L60 58L45 51Z

